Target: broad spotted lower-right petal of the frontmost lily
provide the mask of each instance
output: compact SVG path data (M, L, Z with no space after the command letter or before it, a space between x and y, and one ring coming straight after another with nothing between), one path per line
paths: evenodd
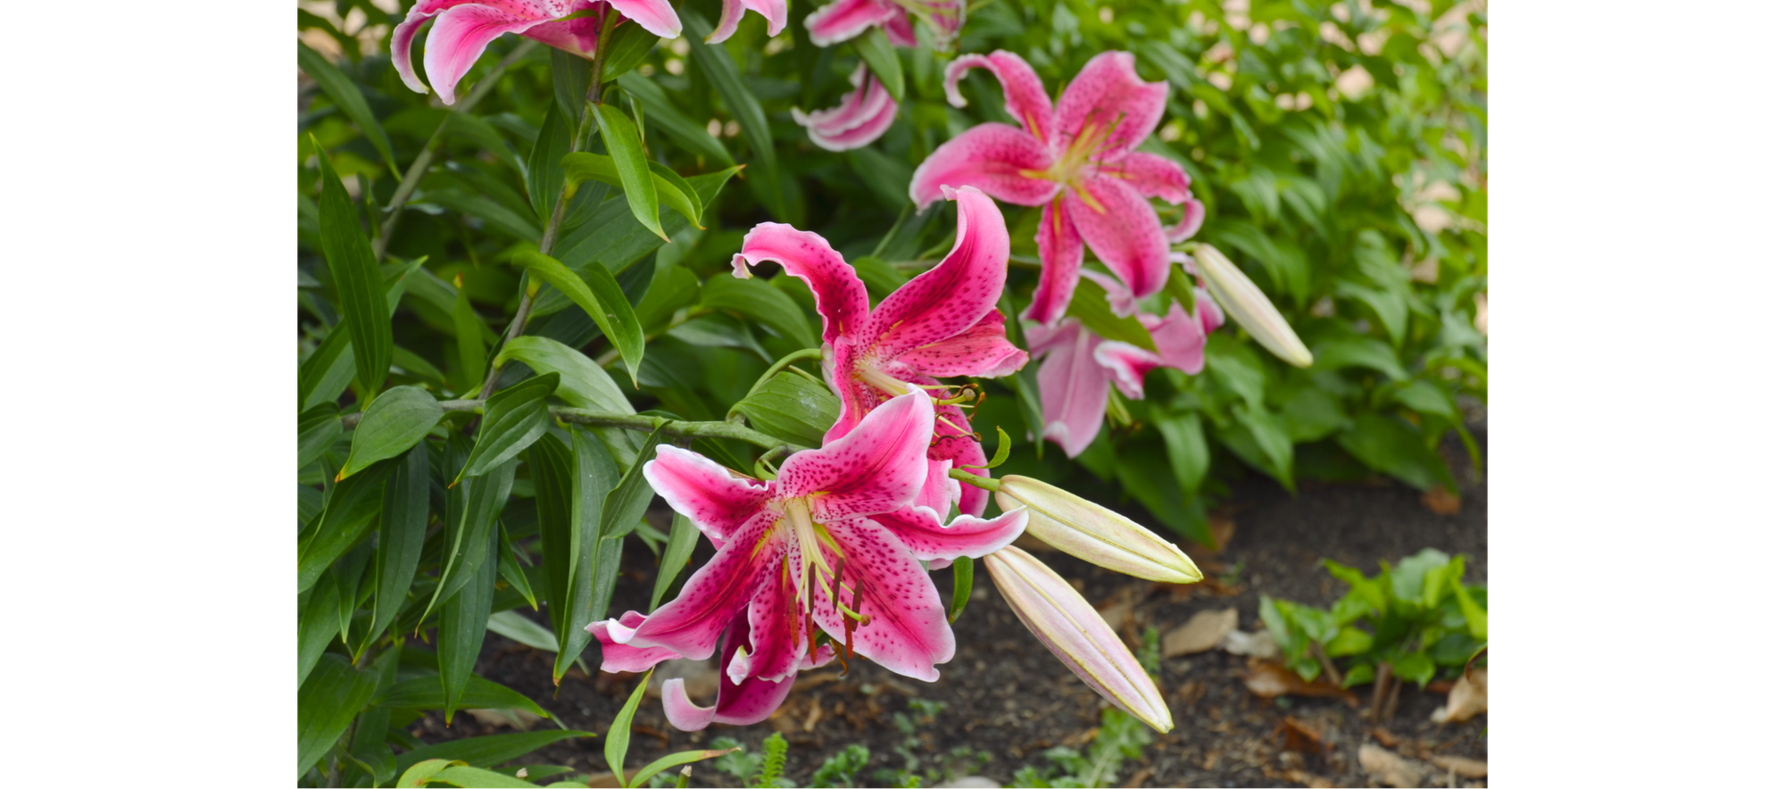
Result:
M857 584L864 587L860 612L869 619L855 628L855 652L896 675L935 682L935 664L955 657L955 632L930 573L873 519L835 519L825 528L846 557L843 598L851 600ZM832 639L844 641L843 612L819 605L812 616Z

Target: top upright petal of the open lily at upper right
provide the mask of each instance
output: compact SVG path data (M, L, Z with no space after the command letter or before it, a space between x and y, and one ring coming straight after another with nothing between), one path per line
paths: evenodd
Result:
M1166 114L1166 96L1171 93L1167 82L1141 82L1133 71L1133 54L1103 52L1091 59L1073 84L1060 93L1055 107L1055 141L1064 150L1087 125L1094 125L1092 134L1116 123L1116 129L1103 137L1096 150L1087 152L1091 159L1108 154L1133 150L1153 134L1153 127Z

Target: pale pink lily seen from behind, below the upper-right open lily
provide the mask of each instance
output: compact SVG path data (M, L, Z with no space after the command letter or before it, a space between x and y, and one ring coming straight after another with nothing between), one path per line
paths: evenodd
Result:
M1141 400L1146 396L1142 380L1153 368L1200 373L1208 332L1225 321L1221 307L1201 289L1196 293L1196 318L1176 302L1164 318L1139 318L1158 353L1103 339L1080 325L1078 318L1067 318L1057 327L1032 327L1025 334L1030 352L1042 357L1035 375L1041 386L1042 437L1060 444L1066 457L1078 457L1098 437L1108 409L1110 384L1128 400Z

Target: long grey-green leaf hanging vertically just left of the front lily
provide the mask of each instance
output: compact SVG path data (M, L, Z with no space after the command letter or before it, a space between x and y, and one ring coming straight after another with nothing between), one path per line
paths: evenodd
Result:
M559 630L553 684L589 646L591 634L585 627L607 618L607 602L614 596L619 573L619 537L600 539L602 507L619 482L619 469L609 450L587 430L571 430L571 452L577 455L569 502L571 544L566 548L571 564L564 569L569 575L569 603L562 607L566 621Z

